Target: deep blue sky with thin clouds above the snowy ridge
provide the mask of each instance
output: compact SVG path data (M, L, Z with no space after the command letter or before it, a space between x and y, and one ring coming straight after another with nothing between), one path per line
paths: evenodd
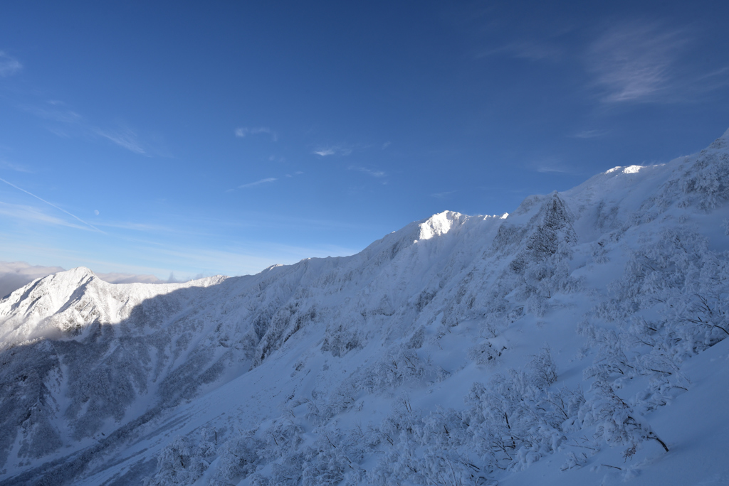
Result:
M5 2L0 260L179 278L510 212L729 128L729 4Z

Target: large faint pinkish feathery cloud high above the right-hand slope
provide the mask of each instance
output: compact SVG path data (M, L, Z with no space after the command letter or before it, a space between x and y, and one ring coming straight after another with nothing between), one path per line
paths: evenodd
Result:
M593 43L588 70L606 103L660 100L676 87L675 64L686 44L683 31L655 23L625 23Z

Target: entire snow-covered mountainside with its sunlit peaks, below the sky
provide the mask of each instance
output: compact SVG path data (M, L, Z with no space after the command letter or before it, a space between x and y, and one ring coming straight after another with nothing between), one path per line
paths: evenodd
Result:
M0 485L729 484L729 132L512 214L0 301Z

